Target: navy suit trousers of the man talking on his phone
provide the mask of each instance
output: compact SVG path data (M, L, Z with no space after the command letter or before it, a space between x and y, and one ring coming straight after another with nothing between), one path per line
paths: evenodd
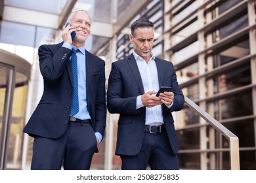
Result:
M35 137L31 169L55 170L90 169L97 148L91 124L68 122L65 133L58 139Z

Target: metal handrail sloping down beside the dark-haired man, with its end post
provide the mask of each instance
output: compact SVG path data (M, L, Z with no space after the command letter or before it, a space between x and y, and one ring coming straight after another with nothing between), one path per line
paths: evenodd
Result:
M205 121L211 124L217 131L219 131L230 143L230 166L232 170L240 169L240 160L239 160L239 141L238 137L229 131L224 125L215 120L210 116L205 110L200 108L196 103L190 100L188 97L184 96L185 104L190 107L192 110L197 112Z

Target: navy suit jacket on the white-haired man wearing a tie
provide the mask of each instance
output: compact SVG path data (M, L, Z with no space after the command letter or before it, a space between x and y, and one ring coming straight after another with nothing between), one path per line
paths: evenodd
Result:
M72 50L62 47L63 42L39 47L39 65L44 90L24 132L31 136L60 137L70 117L72 104ZM93 129L102 136L106 126L105 62L86 54L87 107Z

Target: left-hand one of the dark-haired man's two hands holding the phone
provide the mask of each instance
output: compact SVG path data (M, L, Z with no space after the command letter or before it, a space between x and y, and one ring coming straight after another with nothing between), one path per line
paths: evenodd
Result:
M142 104L145 107L154 107L161 104L160 97L156 97L154 94L157 92L146 92L141 96Z

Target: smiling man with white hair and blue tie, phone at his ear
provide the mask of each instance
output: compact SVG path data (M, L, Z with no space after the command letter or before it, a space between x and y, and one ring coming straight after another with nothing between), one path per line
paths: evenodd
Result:
M44 91L24 132L34 137L31 169L90 169L106 126L105 63L85 49L91 16L76 10L63 41L39 47Z

